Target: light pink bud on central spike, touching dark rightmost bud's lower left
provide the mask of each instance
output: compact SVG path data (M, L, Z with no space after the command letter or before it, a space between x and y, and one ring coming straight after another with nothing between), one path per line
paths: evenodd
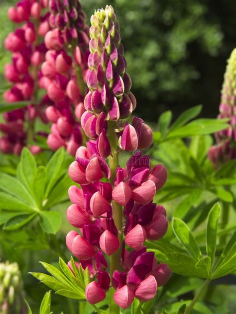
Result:
M136 225L125 236L125 243L136 251L143 246L145 240L146 231L141 225Z

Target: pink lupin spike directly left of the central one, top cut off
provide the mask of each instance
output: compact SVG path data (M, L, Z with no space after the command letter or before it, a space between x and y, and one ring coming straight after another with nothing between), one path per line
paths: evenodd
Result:
M65 147L74 156L83 143L79 121L85 111L89 28L77 0L50 0L49 9L51 30L45 36L49 50L41 80L51 100L46 115L53 124L47 143L54 151Z

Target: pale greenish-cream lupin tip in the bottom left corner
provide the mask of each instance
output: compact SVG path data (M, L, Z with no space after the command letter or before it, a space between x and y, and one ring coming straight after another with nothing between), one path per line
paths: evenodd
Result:
M0 313L27 313L23 283L17 263L0 263Z

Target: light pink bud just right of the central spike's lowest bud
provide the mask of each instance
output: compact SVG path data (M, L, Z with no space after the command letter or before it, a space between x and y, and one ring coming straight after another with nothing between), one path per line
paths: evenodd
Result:
M144 279L134 291L135 298L141 302L152 300L157 291L157 283L155 277L150 275Z

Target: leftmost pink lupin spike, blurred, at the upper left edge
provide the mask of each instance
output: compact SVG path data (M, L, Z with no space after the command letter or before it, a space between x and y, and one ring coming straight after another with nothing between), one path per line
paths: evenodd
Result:
M23 25L8 34L5 48L12 52L12 64L5 66L5 78L12 84L4 93L5 101L27 101L25 108L4 113L6 123L0 124L4 135L0 139L0 150L7 154L21 153L23 146L35 141L34 120L40 117L47 123L44 106L47 97L39 98L40 65L44 60L46 47L43 37L49 30L48 14L44 12L47 0L21 0L16 7L10 7L8 17ZM45 136L39 132L38 135ZM37 145L29 144L32 153L40 151Z

